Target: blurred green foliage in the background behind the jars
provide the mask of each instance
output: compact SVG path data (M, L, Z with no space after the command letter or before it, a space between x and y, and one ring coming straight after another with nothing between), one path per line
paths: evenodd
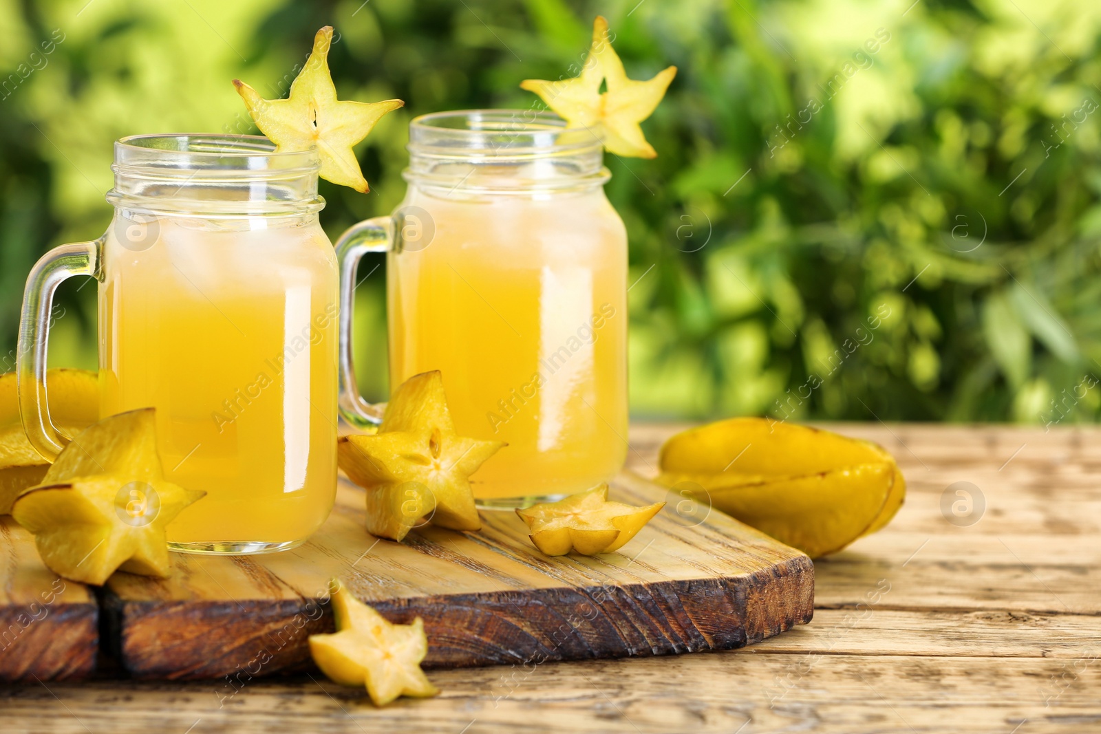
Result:
M106 228L115 139L254 131L230 79L285 92L331 23L341 98L406 100L360 149L369 196L323 182L335 238L401 200L413 116L527 108L516 85L566 74L599 12L632 77L679 67L644 123L659 156L608 156L631 242L636 415L1056 423L1101 408L1094 0L86 2L0 0L0 68L18 81L0 92L6 353L33 260ZM381 274L357 306L373 397ZM94 294L77 287L51 361L91 366Z

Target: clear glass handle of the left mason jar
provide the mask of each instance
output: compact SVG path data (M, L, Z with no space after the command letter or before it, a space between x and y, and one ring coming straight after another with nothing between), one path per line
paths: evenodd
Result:
M98 266L99 240L63 244L42 255L34 264L23 291L15 354L19 413L31 446L48 461L56 459L69 442L69 437L57 430L51 420L46 399L46 347L54 292L62 281L74 275L95 277Z

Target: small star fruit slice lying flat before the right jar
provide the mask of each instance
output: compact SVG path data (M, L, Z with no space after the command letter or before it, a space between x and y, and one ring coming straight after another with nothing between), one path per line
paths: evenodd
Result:
M645 507L609 502L608 485L601 484L558 502L517 510L516 514L527 523L532 543L547 556L565 556L571 550L593 556L622 548L664 506L664 502Z

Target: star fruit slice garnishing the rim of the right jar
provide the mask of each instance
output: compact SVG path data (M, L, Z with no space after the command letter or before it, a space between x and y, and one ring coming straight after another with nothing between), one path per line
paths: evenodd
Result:
M525 79L521 88L534 91L569 127L596 132L603 129L604 147L617 155L652 158L657 155L646 142L639 123L653 114L665 97L676 66L659 72L652 79L629 79L608 36L608 21L597 15L592 23L592 45L581 73L566 80ZM607 91L600 94L600 83Z

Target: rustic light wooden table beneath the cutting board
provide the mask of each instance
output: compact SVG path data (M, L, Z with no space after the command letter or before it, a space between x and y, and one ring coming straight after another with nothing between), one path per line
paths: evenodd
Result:
M2 732L1101 732L1101 429L833 426L909 484L816 562L815 618L730 653L434 671L374 709L319 676L0 690ZM637 426L655 467L673 426ZM958 494L963 492L964 494Z

